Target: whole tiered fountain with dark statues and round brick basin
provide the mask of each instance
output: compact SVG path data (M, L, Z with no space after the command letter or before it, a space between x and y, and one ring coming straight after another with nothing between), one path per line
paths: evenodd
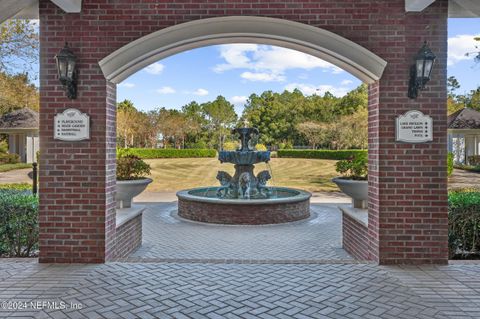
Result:
M311 194L286 187L267 186L268 170L254 174L257 163L270 161L269 151L256 151L256 128L236 128L241 146L221 151L221 163L235 164L235 174L219 171L221 186L187 189L177 193L180 217L216 224L277 224L310 216Z

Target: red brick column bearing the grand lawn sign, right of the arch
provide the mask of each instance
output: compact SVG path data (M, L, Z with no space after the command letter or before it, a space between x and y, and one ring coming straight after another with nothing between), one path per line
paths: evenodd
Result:
M382 79L370 86L369 103L370 254L381 264L448 260L447 9L447 1L436 1L383 27L379 20L370 33L371 45L378 41L375 51L388 61ZM409 67L425 40L437 62L426 90L411 100ZM395 141L395 118L411 109L433 118L433 142Z

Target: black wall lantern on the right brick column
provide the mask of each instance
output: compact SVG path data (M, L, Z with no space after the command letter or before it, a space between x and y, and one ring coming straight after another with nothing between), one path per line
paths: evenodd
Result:
M415 55L415 64L410 68L409 98L415 99L418 96L418 90L425 88L425 85L430 80L435 59L435 54L433 54L427 45L427 41L425 41L420 51Z

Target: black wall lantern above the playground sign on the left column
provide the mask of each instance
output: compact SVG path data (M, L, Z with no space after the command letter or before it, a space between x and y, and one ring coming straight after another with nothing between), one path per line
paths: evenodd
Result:
M58 79L67 91L70 100L77 98L77 57L65 43L65 47L55 56L57 62Z

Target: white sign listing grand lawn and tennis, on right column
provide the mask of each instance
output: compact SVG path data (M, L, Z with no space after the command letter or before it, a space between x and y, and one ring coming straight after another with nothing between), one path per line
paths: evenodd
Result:
M407 143L433 141L433 120L420 111L412 110L397 117L396 140Z

